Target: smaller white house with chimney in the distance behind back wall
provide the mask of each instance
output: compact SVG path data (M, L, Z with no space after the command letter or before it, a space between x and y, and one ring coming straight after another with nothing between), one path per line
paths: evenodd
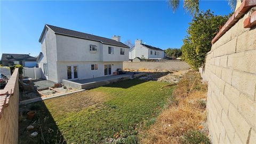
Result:
M141 39L136 39L135 45L129 51L129 59L134 59L136 57L159 60L164 58L164 50L151 45L142 44Z

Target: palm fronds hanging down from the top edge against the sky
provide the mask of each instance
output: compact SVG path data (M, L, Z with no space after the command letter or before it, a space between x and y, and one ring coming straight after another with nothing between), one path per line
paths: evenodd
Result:
M241 0L227 0L231 10L235 10L236 2ZM168 5L172 8L173 12L179 7L179 0L167 0ZM183 8L191 15L199 12L199 0L183 0Z

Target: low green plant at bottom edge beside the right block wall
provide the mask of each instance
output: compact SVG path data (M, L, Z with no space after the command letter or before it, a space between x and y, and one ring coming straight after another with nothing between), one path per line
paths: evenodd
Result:
M210 144L209 138L204 133L197 130L189 130L187 133L181 136L181 141L182 143L186 144Z

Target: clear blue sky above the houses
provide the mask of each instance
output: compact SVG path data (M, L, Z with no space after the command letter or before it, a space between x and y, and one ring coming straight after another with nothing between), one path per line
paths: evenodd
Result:
M227 1L200 1L200 10L207 9L231 12ZM166 1L1 1L0 53L38 55L45 23L108 38L119 35L122 42L139 38L162 49L179 48L190 21L182 4L173 13Z

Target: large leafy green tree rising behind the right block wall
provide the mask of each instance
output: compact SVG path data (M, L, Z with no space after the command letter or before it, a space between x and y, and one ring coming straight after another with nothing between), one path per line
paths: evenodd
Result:
M213 12L199 12L189 23L188 35L181 46L182 58L194 69L201 67L205 55L211 50L211 41L228 16L214 15Z

